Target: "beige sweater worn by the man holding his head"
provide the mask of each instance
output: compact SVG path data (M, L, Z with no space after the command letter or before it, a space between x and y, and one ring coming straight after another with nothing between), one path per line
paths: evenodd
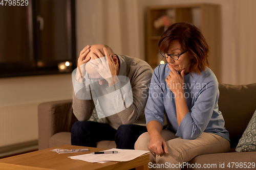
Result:
M136 124L145 126L144 108L148 97L148 85L150 84L153 69L143 60L125 55L118 55L120 62L119 75L125 74L130 79L133 104L125 110L103 118L104 123L114 129L120 125ZM125 69L126 67L126 69ZM77 99L73 91L73 112L79 121L88 120L95 107L93 100Z

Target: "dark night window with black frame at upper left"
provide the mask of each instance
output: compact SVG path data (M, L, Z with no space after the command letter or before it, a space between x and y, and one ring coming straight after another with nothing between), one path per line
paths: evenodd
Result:
M1 5L0 23L0 77L59 74L76 67L74 0ZM70 66L60 69L66 61Z

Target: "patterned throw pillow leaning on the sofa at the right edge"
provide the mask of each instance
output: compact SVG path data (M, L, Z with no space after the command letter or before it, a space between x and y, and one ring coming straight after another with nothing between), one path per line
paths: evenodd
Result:
M236 148L237 152L256 151L256 110Z

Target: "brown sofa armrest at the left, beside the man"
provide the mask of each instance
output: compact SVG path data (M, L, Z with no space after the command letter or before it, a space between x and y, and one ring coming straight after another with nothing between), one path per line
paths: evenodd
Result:
M49 139L58 132L70 132L77 119L72 100L46 102L38 105L38 149L49 148Z

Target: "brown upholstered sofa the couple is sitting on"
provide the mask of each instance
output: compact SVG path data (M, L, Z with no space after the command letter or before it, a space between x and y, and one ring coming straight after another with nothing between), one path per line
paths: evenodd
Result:
M232 169L232 162L256 162L256 152L236 152L236 146L256 109L256 84L220 84L219 109L230 134L229 153L200 155L189 164L216 164L214 169ZM38 105L39 150L71 144L71 127L77 121L72 111L72 100L41 103ZM255 141L256 143L256 141ZM100 141L97 148L115 148L114 141ZM224 164L223 164L224 163ZM230 168L227 165L230 165ZM225 168L221 166L225 165ZM235 169L235 164L233 165ZM189 168L184 168L189 169ZM197 167L191 169L200 169ZM211 169L211 168L209 168ZM253 169L253 168L252 168Z

